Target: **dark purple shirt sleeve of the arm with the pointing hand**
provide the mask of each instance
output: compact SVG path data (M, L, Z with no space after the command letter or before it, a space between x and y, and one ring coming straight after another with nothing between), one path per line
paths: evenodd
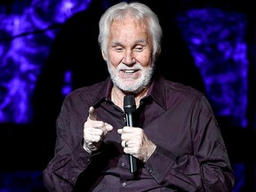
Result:
M49 191L72 191L77 178L91 162L91 155L82 147L83 133L71 125L77 124L74 119L70 123L73 116L70 106L68 99L64 100L56 123L55 154L43 172L44 186Z

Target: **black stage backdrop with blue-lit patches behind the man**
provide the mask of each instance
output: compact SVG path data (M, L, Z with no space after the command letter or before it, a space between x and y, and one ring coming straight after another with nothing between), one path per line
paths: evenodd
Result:
M0 0L0 191L45 191L62 100L108 76L98 21L116 2ZM255 2L141 2L164 29L157 70L205 93L236 174L233 192L254 192Z

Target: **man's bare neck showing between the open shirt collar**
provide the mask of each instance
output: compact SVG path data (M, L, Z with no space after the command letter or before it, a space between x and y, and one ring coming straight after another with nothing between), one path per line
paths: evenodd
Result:
M148 87L144 89L142 92L138 94L134 94L136 108L140 106L140 100L145 97L148 93ZM119 108L124 107L124 96L127 95L125 92L119 90L115 85L111 91L111 100L118 106Z

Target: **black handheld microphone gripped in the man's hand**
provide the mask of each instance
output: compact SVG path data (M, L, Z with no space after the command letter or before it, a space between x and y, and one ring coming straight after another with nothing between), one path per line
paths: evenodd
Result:
M126 126L133 126L132 113L136 110L136 103L133 95L124 96L124 113ZM137 171L137 160L134 156L129 154L130 172Z

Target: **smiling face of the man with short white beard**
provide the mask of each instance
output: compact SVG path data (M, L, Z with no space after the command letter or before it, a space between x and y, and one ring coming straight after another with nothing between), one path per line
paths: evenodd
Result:
M108 36L108 55L102 52L102 56L117 88L124 92L143 91L153 74L152 39L147 22L129 15L114 20Z

